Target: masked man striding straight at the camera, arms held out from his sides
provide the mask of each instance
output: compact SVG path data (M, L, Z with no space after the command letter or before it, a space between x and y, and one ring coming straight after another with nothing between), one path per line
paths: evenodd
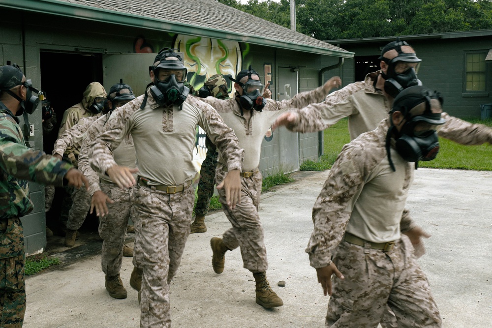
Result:
M89 161L120 188L131 187L137 169L117 165L112 156L112 149L131 134L138 168L133 263L139 268L130 281L141 283L140 327L170 327L169 283L183 255L193 209L191 180L196 170L191 159L197 124L222 153L229 173L217 188L225 189L226 205L231 208L241 200L239 169L244 150L211 106L188 95L183 85L186 68L177 53L162 49L149 71L153 83L144 95L112 114Z

